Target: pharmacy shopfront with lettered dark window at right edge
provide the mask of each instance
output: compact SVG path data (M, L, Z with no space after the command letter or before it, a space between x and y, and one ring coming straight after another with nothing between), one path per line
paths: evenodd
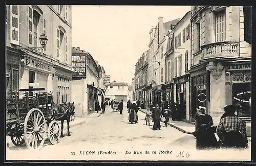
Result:
M251 60L227 62L225 66L226 105L241 105L238 116L251 117Z

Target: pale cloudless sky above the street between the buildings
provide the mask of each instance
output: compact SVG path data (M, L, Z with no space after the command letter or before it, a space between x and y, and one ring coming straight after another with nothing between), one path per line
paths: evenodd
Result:
M111 75L111 82L131 84L158 17L167 22L189 10L190 6L72 6L72 47L89 52Z

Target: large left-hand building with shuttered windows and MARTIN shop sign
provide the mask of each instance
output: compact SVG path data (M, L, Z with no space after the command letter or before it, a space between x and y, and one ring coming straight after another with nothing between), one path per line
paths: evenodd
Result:
M71 11L70 5L6 6L7 93L38 86L53 91L55 103L71 101Z

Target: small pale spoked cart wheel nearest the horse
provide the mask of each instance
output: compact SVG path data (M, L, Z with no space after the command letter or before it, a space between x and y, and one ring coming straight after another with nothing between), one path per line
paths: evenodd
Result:
M48 127L48 139L52 145L57 144L60 137L60 128L57 121L52 121Z

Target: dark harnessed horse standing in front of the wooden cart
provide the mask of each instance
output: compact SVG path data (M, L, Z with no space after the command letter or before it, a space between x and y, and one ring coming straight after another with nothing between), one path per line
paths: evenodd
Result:
M75 115L75 106L74 106L74 102L70 103L70 102L65 102L65 103L61 103L61 104L53 104L53 116L55 116L57 118L57 120L61 121L61 133L60 133L60 137L64 137L63 135L63 123L66 120L67 121L67 126L68 126L68 136L70 135L69 132L69 122L70 122L70 116L74 116ZM59 116L60 115L60 116Z

